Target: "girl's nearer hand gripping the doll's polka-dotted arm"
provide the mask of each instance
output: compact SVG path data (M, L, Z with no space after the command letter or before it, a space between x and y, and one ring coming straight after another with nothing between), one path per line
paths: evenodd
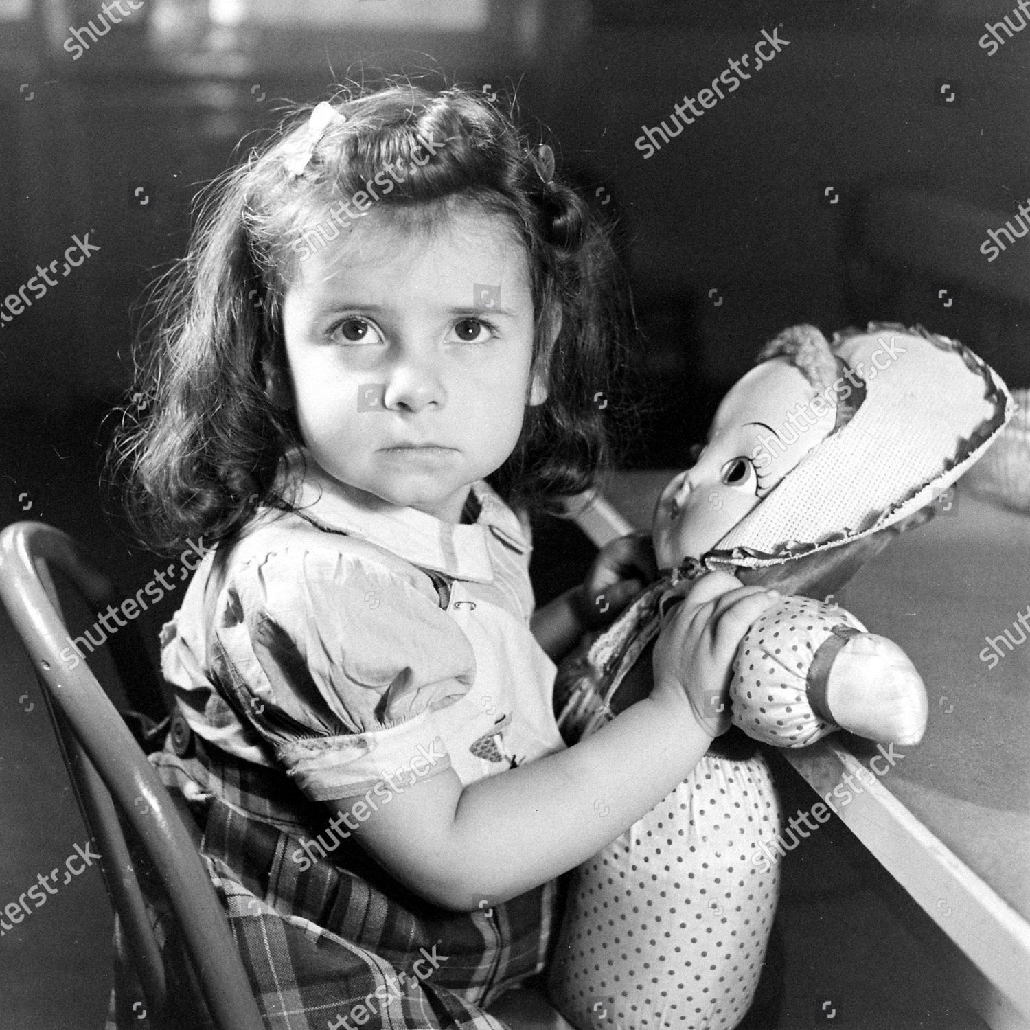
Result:
M689 702L710 735L729 729L729 683L733 658L748 627L780 599L775 591L741 586L728 573L713 572L675 592L683 600L662 605L655 642L651 696L668 703Z

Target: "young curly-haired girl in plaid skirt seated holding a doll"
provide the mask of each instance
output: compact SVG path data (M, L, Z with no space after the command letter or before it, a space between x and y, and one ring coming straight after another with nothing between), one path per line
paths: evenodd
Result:
M147 539L210 550L151 760L269 1027L519 1026L486 1008L543 968L555 878L725 728L705 694L774 603L726 575L678 588L649 696L571 748L552 713L555 660L653 576L624 539L534 613L529 512L610 455L615 267L549 147L394 84L252 151L167 284L118 453ZM146 1026L133 996L109 1027Z

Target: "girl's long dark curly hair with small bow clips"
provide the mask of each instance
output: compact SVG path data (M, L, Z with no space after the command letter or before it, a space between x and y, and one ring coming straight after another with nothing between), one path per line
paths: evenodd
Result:
M626 387L634 322L613 227L551 176L548 150L542 160L516 125L514 101L504 111L480 92L434 94L393 78L375 91L341 88L332 104L343 118L330 121L302 169L291 154L304 152L311 109L294 105L264 145L202 192L188 253L153 286L132 387L144 403L126 410L108 470L136 535L158 551L217 543L262 502L281 505L276 473L302 442L296 416L268 388L286 365L284 291L305 247L317 245L307 227L335 234L327 212L397 162L410 173L379 202L403 224L432 226L470 202L506 217L526 248L533 369L549 397L526 408L514 451L488 477L497 493L560 515L562 499L593 486L639 434ZM419 136L446 145L412 161Z

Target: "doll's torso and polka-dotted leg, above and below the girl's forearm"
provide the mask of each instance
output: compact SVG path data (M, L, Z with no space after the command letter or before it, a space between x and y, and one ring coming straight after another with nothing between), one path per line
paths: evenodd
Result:
M562 662L555 685L569 743L611 717L638 660L650 660L665 577ZM737 730L690 776L571 874L550 974L552 1002L580 1028L730 1030L758 984L780 869L751 861L780 828L765 759Z

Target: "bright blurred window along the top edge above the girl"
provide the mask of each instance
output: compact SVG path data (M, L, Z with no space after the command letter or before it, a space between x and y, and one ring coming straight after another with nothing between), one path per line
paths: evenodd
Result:
M584 2L145 0L108 27L99 21L99 0L38 0L50 60L73 74L103 65L144 75L240 79L285 68L294 77L318 78L367 61L374 64L369 70L382 73L403 64L447 68L458 76L488 69L494 77L515 77L539 59L548 26L563 25L570 8ZM0 0L0 9L21 5L31 7L31 0ZM88 38L89 62L69 65L62 53L69 26L88 28L91 20L102 38Z

